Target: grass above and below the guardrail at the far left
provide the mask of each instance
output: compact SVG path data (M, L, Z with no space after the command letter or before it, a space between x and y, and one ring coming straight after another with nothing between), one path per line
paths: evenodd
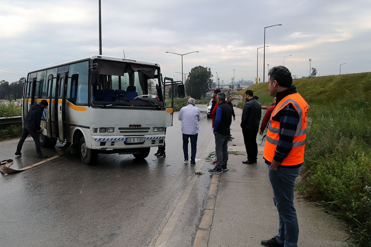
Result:
M21 116L21 108L14 104L0 104L0 117L17 117ZM9 124L1 126L0 128L0 139L7 137L21 136L22 124Z

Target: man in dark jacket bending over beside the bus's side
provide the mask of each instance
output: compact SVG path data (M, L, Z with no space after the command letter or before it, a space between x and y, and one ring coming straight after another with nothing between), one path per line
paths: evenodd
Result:
M26 140L28 134L30 134L35 141L36 146L36 153L37 157L39 158L47 158L45 154L41 151L40 146L40 137L39 137L39 131L41 130L40 122L41 117L43 115L44 109L48 106L48 103L46 100L42 100L40 104L33 104L30 108L30 110L27 113L27 116L24 118L23 121L23 130L22 130L22 136L19 139L18 145L17 145L17 151L14 153L15 155L22 155L21 150L24 143L24 140Z

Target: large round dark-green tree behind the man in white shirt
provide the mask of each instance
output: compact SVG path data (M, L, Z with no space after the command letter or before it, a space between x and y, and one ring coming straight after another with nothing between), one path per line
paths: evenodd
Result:
M185 83L185 92L194 99L202 99L213 85L213 74L208 67L197 66L191 69Z

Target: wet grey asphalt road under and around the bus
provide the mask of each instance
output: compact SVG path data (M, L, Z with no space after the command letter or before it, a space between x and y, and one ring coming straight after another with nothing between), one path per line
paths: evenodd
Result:
M201 110L196 166L183 162L181 124L174 113L167 128L165 158L151 148L145 160L132 155L99 154L85 165L70 149L55 160L0 177L0 246L192 246L211 178L211 120ZM18 139L0 142L1 160L12 168L34 164L31 138L20 157ZM62 144L43 148L49 157ZM190 147L189 147L190 153ZM204 173L196 176L194 172Z

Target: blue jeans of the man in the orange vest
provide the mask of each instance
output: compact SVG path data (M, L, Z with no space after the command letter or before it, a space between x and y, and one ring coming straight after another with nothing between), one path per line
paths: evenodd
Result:
M278 170L269 169L269 181L273 188L273 202L279 216L276 240L285 247L298 247L299 223L294 205L295 179L300 167L287 168L279 166Z

